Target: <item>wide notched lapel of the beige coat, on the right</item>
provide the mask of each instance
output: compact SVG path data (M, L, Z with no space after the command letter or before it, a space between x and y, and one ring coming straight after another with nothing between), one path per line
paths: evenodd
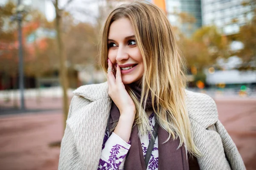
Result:
M218 121L214 100L206 94L186 91L186 107L195 146L202 153L198 158L200 169L230 170L220 135L214 130L207 129Z

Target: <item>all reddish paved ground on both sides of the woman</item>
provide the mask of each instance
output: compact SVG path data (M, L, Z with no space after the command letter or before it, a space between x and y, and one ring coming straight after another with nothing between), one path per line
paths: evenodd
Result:
M256 169L256 100L218 99L219 118L236 143L247 170ZM50 147L63 135L61 100L45 98L38 104L26 101L26 107L38 112L9 114L0 101L0 169L57 170L59 147ZM50 109L44 111L44 109ZM55 109L55 110L52 110ZM18 112L17 112L18 113Z

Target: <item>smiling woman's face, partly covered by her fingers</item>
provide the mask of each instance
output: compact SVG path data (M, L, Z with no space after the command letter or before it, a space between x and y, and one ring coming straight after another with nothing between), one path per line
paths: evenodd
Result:
M121 18L111 24L108 34L108 58L115 69L116 63L120 66L124 84L130 84L143 77L143 59L128 18Z

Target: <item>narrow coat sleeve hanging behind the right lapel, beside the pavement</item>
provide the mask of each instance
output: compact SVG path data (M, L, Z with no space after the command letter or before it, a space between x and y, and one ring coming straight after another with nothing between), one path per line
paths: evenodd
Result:
M232 170L245 170L244 162L237 150L236 144L233 142L227 130L218 120L215 123L215 128L218 134L221 136L221 141L223 143L224 152L227 156L228 161L230 162Z

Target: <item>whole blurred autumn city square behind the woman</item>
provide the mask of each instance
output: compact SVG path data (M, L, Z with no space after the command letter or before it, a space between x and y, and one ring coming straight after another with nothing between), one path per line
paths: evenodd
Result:
M0 169L57 170L72 91L105 82L99 32L132 0L0 0ZM211 96L256 169L256 0L149 0L172 24L187 88Z

